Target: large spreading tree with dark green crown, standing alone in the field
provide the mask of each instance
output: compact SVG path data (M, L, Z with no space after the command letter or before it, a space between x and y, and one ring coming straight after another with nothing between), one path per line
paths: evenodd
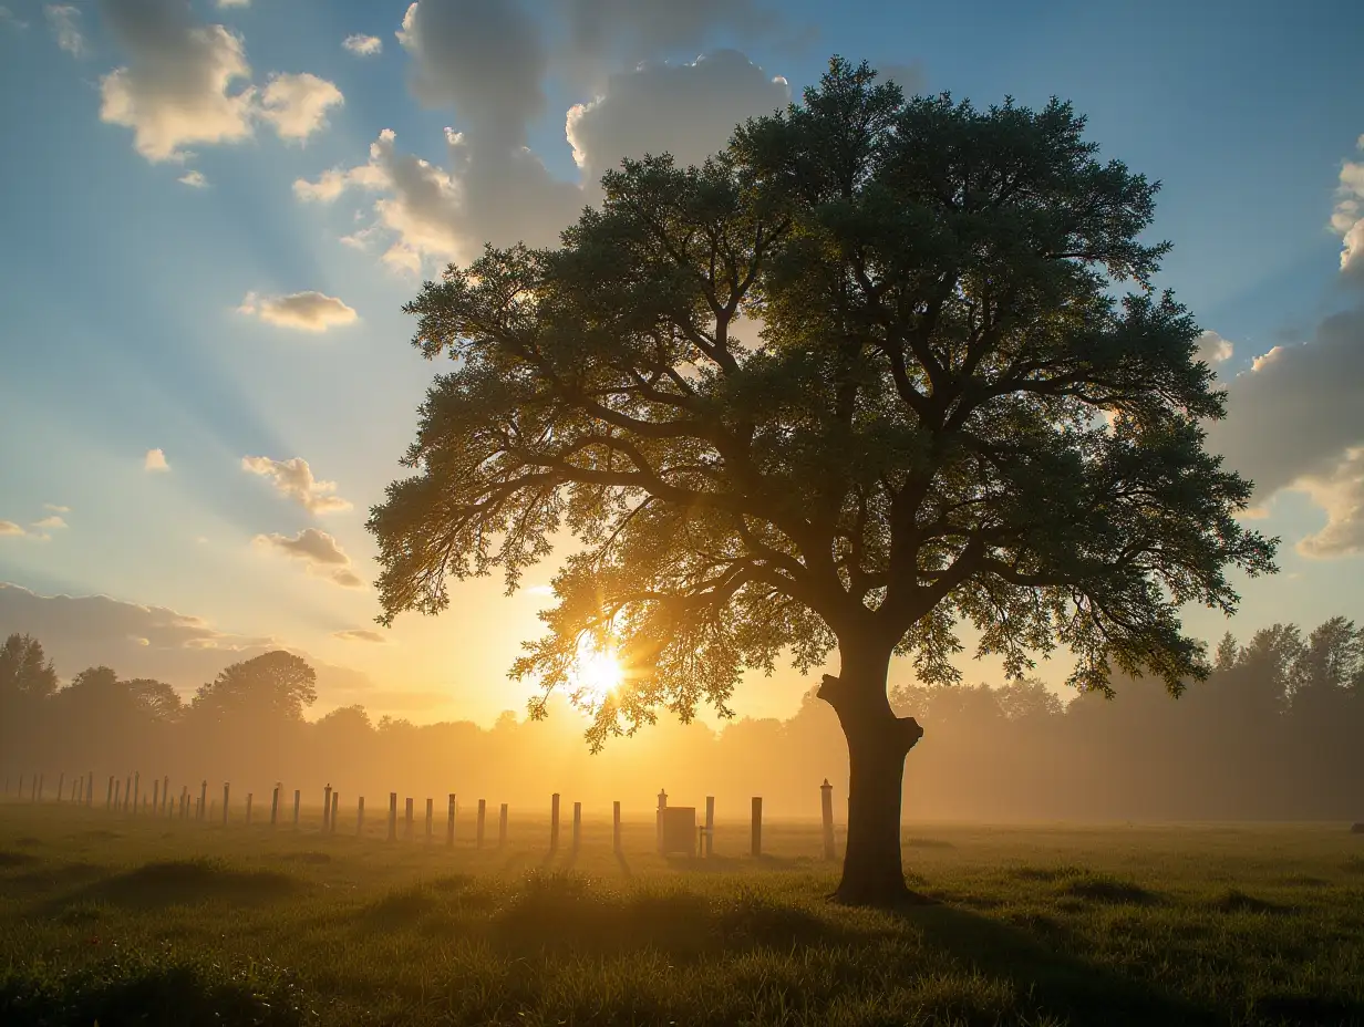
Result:
M625 161L561 247L490 247L408 304L456 368L370 520L379 619L443 610L451 577L512 589L570 531L513 672L591 705L593 746L836 649L837 895L891 902L922 734L892 656L956 681L968 623L1015 676L1061 644L1079 689L1116 666L1177 691L1207 674L1180 606L1230 612L1228 569L1274 544L1203 447L1199 330L1150 286L1157 184L1063 102L906 101L839 59L803 100L701 168ZM614 694L574 676L585 642L619 652Z

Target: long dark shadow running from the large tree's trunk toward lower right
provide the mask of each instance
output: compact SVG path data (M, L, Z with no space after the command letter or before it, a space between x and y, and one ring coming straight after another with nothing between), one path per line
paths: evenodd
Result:
M923 932L929 945L988 977L1011 981L1020 994L1031 994L1039 1009L1072 1023L1218 1022L1204 1007L1060 952L1022 927L945 904L900 915Z

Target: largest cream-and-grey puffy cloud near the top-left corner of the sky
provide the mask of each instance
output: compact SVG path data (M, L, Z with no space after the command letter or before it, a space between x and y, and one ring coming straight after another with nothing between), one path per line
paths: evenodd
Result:
M258 90L241 37L196 23L181 0L105 0L104 11L128 63L101 80L100 117L132 128L149 161L183 161L194 143L239 142L256 120L303 139L342 102L315 75L274 75Z

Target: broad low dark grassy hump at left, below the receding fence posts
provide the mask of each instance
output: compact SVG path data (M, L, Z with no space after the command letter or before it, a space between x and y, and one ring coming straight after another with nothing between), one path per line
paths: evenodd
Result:
M67 902L106 902L132 910L207 902L247 906L277 902L303 888L297 878L276 870L237 870L217 859L172 859L95 881Z

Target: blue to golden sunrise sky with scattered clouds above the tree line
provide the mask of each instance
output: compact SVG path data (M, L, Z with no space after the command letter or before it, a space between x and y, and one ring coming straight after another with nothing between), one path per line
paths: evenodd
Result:
M0 633L63 676L188 693L286 646L316 712L522 709L552 562L374 623L364 521L445 370L401 307L484 241L551 244L623 155L720 149L835 53L908 93L1071 100L1163 183L1157 284L1229 394L1210 445L1284 540L1233 622L1185 623L1364 619L1360 40L1364 5L1326 1L5 0ZM788 716L809 685L734 705Z

